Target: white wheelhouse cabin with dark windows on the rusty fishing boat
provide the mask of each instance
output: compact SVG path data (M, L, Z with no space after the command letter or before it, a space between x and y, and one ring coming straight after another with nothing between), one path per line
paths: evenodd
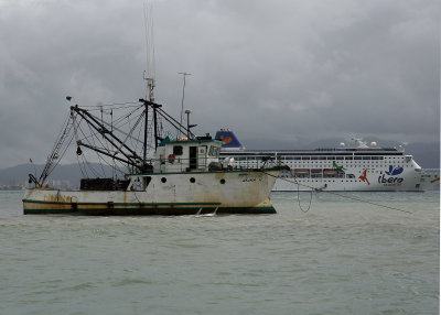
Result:
M153 164L154 173L206 172L219 162L223 141L212 137L171 140L165 138L158 146Z

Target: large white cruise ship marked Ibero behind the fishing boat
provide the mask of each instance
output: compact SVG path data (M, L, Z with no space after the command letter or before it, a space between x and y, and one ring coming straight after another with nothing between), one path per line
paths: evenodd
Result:
M233 131L216 132L220 156L235 167L260 167L265 161L287 165L272 191L423 192L440 181L439 170L423 170L412 155L362 139L335 149L247 150Z

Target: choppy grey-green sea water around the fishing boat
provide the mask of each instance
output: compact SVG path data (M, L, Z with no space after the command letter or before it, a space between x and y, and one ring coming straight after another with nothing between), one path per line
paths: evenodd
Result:
M23 216L0 192L0 314L439 314L439 192L343 195L83 217Z

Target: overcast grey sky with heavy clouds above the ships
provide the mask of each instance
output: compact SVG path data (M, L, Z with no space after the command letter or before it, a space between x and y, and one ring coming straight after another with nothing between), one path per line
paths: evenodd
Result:
M153 1L157 100L289 149L439 141L437 0ZM0 0L0 167L42 163L79 105L146 95L143 1ZM336 143L337 144L337 143ZM282 148L283 146L283 148Z

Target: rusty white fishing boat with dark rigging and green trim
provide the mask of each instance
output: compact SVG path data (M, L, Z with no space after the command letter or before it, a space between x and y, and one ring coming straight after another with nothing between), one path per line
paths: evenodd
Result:
M184 127L154 99L126 105L71 106L42 174L30 174L31 187L23 197L25 215L276 213L269 195L280 174L278 165L266 162L259 167L233 169L219 161L223 141L209 134L196 137L192 126ZM116 118L121 108L126 113ZM174 131L166 133L164 124ZM85 177L79 189L49 186L50 173L72 146L78 160L90 151L128 172L111 177ZM153 156L149 155L151 151Z

